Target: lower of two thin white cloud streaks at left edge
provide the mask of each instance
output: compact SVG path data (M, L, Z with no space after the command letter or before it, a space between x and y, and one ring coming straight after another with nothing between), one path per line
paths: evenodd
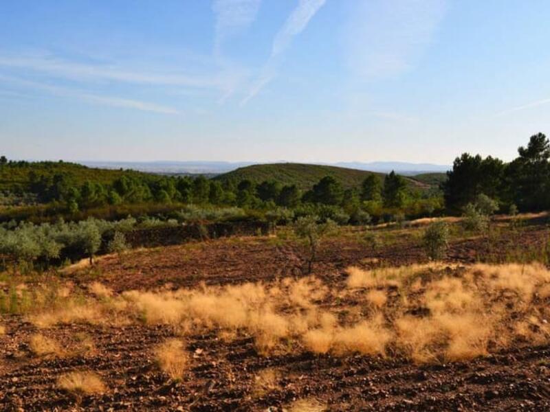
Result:
M168 106L162 106L159 104L142 102L141 100L132 100L126 98L120 98L109 95L97 95L94 93L88 93L87 91L80 91L69 89L67 87L52 86L51 84L45 84L41 82L34 82L29 80L23 80L21 78L14 78L11 76L0 75L0 82L6 82L8 84L17 84L20 87L27 89L45 91L52 95L56 95L63 98L76 98L92 104L101 104L104 106L133 108L140 111L148 111L154 113L163 113L166 115L177 115L179 111L175 108Z

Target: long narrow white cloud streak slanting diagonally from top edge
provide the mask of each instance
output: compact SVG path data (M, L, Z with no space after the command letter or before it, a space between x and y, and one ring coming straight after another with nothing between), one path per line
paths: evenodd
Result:
M266 84L271 82L278 73L278 67L281 65L281 56L292 43L294 36L297 36L307 26L307 23L319 11L326 0L300 0L298 6L292 11L287 21L276 34L270 58L265 63L259 78L252 84L250 91L241 101L241 106L245 105L250 99L254 98Z

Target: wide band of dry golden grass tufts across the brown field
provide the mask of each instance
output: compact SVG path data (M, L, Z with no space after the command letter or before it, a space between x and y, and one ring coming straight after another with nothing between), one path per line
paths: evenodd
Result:
M348 273L347 284L332 288L303 277L113 296L95 283L89 288L95 299L69 295L28 319L43 329L78 322L166 325L180 336L214 329L224 341L252 336L259 354L360 353L415 363L465 361L550 337L550 271L540 264L351 267ZM39 356L63 354L41 334L30 347ZM188 365L181 341L166 341L155 354L170 378L181 379Z

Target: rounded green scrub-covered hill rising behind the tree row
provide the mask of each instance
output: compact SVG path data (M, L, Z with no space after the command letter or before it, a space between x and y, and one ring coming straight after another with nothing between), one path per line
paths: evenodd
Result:
M297 185L301 190L309 190L325 176L333 176L344 187L358 187L369 174L377 174L384 179L383 173L368 172L365 170L340 168L327 165L312 165L305 163L271 163L263 165L250 165L239 168L225 174L215 176L214 179L221 182L239 183L248 179L254 183L266 180L274 180L284 185ZM428 183L405 177L411 188L426 190Z

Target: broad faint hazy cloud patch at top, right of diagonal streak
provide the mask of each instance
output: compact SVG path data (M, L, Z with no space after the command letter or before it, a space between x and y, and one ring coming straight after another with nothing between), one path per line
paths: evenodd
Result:
M351 70L367 80L414 67L432 43L446 0L354 2L344 36Z

